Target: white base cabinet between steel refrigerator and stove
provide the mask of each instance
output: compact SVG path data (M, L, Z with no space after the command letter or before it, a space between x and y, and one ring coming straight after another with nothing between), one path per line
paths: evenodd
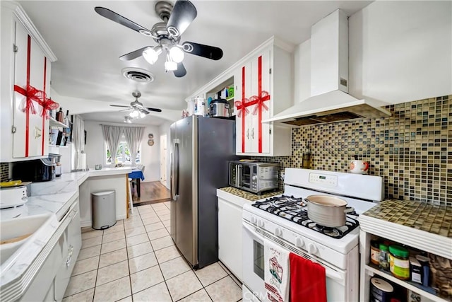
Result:
M242 207L246 199L217 190L218 259L242 281Z

